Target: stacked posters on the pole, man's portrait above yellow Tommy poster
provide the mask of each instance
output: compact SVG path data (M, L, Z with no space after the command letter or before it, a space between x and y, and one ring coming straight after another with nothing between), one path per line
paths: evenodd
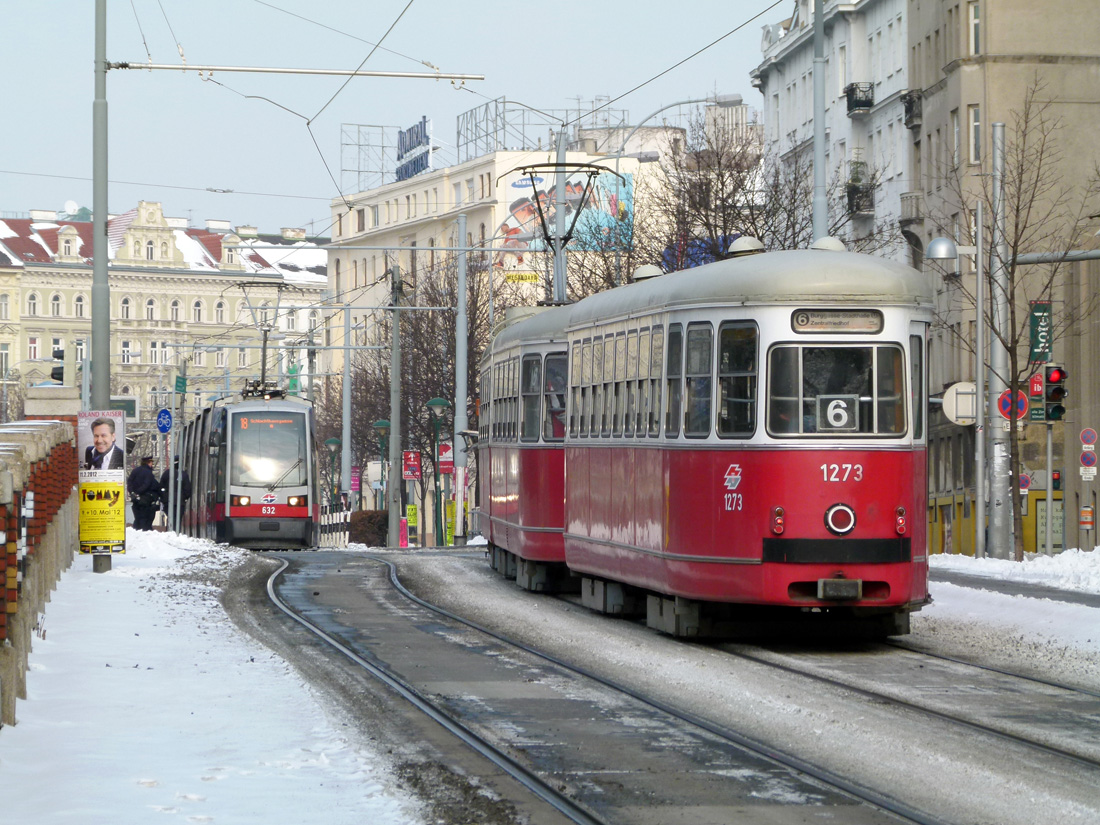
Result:
M125 428L121 409L77 414L81 553L127 550Z

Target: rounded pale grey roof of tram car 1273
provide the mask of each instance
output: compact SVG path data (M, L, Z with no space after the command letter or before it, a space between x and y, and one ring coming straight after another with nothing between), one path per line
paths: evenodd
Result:
M690 306L857 301L933 304L932 283L911 266L855 252L789 250L716 261L588 296L566 329L654 309Z

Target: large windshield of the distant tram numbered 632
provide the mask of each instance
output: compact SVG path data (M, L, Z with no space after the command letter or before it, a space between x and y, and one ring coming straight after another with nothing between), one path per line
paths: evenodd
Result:
M230 484L276 490L307 483L304 413L257 410L232 420Z

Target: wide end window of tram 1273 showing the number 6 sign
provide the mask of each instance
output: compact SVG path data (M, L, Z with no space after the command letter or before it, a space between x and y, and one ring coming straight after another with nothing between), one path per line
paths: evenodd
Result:
M905 433L905 369L898 345L782 344L768 356L773 436Z

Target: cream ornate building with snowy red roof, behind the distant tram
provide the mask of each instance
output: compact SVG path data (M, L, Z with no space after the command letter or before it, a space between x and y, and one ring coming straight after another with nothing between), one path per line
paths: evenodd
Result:
M285 376L292 363L301 364L308 385L308 346L327 283L323 240L300 230L261 235L224 221L191 228L153 201L113 216L108 237L111 395L127 402L131 433L156 430L156 411L169 404L182 372L185 415L262 372ZM23 387L50 381L64 361L55 353L87 363L91 283L91 223L45 211L0 221L6 416Z

